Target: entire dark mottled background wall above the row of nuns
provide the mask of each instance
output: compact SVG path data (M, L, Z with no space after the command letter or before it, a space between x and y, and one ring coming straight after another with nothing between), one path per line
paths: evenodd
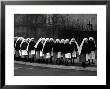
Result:
M71 39L80 45L84 37L97 41L97 14L15 14L14 36Z

